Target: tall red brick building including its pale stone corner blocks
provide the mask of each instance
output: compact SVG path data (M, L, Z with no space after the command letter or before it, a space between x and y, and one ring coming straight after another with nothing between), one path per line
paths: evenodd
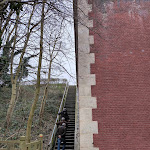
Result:
M80 150L150 150L150 0L74 4Z

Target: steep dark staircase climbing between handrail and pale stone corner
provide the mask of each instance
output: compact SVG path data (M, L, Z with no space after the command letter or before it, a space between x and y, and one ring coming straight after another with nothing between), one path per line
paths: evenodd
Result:
M70 118L70 122L68 123L68 128L66 131L66 150L74 149L74 131L75 131L75 98L76 98L76 87L69 86L68 95L65 103L65 107L67 108L68 115ZM57 143L55 146L55 150L57 149ZM62 145L60 146L62 149Z

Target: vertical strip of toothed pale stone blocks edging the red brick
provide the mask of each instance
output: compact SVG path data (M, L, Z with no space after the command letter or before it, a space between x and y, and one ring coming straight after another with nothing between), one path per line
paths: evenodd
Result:
M91 85L95 85L95 75L90 73L90 65L95 62L95 55L90 53L94 43L89 35L93 21L88 19L92 10L87 0L78 1L78 87L79 87L79 120L80 150L98 150L93 147L93 134L98 133L97 121L92 121L92 109L96 108L96 98L91 96Z

